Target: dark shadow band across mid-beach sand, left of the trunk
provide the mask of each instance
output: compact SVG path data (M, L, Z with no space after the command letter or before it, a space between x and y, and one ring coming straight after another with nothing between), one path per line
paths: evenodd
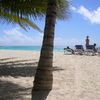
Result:
M8 58L8 60L11 58ZM7 58L0 59L0 76L32 77L35 75L37 62L30 60L7 61Z

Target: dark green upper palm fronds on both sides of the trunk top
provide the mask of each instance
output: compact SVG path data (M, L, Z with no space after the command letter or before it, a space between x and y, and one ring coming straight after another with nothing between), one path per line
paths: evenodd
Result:
M48 0L1 0L2 11L14 13L16 16L42 17L46 14ZM57 18L68 16L69 1L58 0Z

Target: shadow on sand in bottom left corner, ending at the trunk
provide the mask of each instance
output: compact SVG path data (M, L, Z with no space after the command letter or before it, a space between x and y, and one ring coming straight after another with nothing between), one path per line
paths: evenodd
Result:
M30 91L31 88L0 80L0 100L30 100Z

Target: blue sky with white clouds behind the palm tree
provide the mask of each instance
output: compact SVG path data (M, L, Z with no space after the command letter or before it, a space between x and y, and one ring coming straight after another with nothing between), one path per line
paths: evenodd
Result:
M55 45L84 45L88 35L90 44L100 46L100 0L71 0L69 12L69 19L57 20ZM35 23L44 29L44 18ZM18 25L0 23L0 45L41 45L42 38L43 34L32 28L26 32Z

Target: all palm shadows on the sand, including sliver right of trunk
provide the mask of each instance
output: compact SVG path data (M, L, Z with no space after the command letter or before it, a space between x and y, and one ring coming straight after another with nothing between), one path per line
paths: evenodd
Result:
M12 60L14 59L14 61ZM0 77L12 76L32 77L35 75L38 62L32 60L17 60L16 58L0 59ZM63 71L60 67L53 67L53 71ZM31 100L31 89L21 87L20 84L0 80L0 100ZM50 90L33 91L32 100L46 100ZM29 97L29 98L28 98Z

